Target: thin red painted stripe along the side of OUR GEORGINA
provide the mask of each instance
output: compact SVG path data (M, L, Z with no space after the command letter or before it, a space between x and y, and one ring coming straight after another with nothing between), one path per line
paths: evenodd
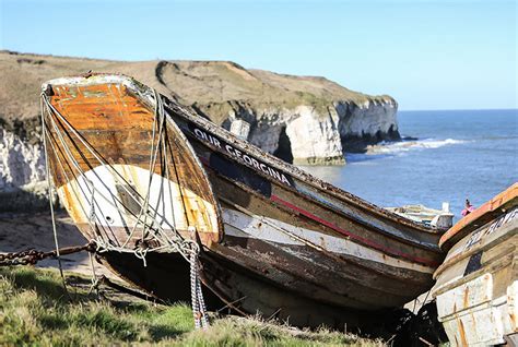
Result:
M302 215L304 215L304 216L306 216L306 217L308 217L308 218L311 218L313 220L316 220L316 222L318 222L318 223L320 223L320 224L322 224L322 225L325 225L325 226L327 226L327 227L333 229L334 231L338 231L338 232L340 232L340 234L342 234L342 235L345 235L346 237L349 237L349 238L352 239L352 240L358 241L358 242L361 242L361 243L363 243L363 244L366 244L366 246L368 246L368 247L370 247L370 248L374 248L374 249L376 249L376 250L378 250L378 251L381 251L381 252L385 252L385 253L389 253L389 254L392 254L392 255L397 255L397 256L400 256L400 258L404 258L404 259L411 260L411 261L413 261L413 262L422 263L422 264L425 264L425 265L428 265L428 266L433 266L433 267L436 267L436 266L439 265L438 263L432 262L432 261L429 261L429 260L427 260L427 259L423 259L423 258L420 258L420 256L414 256L414 255L411 255L411 254L407 254L407 253L403 253L403 252L401 252L401 251L399 251L399 250L395 250L395 249L391 249L391 248L387 248L387 247L385 247L385 246L382 246L382 244L380 244L380 243L377 243L377 242L375 242L375 241L373 241L373 240L369 240L369 239L363 238L363 237L361 237L361 236L351 234L350 231L340 228L340 227L337 226L335 224L330 223L330 222L328 222L328 220L326 220L326 219L322 219L322 218L320 218L320 217L314 215L313 213L310 213L310 212L308 212L308 211L306 211L306 210L303 210L303 208L301 208L301 207L297 207L297 206L295 206L294 204L289 203L287 201L282 200L282 199L279 198L279 196L271 195L271 200L274 201L274 202L281 203L281 204L283 204L284 206L287 206L287 207L290 207L290 208L292 208L292 210L298 212L299 214L302 214Z

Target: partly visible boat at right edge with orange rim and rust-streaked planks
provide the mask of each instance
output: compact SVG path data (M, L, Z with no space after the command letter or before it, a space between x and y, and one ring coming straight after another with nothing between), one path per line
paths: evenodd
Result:
M452 346L518 345L518 183L440 239L434 277L438 319Z

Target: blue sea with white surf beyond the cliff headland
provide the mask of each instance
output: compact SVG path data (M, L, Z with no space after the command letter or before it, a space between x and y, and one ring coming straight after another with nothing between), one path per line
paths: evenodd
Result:
M399 111L401 142L346 154L342 167L302 169L379 206L466 199L480 206L518 181L518 110Z

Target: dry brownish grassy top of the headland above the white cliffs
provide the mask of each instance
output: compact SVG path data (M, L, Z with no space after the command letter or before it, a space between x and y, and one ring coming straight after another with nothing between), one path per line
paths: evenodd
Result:
M186 105L222 105L239 101L251 107L293 108L298 105L326 107L333 101L363 104L392 100L350 91L325 77L295 76L263 70L247 70L229 61L111 61L0 51L0 121L12 123L38 115L43 82L94 72L131 75L176 97ZM209 115L219 122L224 115Z

